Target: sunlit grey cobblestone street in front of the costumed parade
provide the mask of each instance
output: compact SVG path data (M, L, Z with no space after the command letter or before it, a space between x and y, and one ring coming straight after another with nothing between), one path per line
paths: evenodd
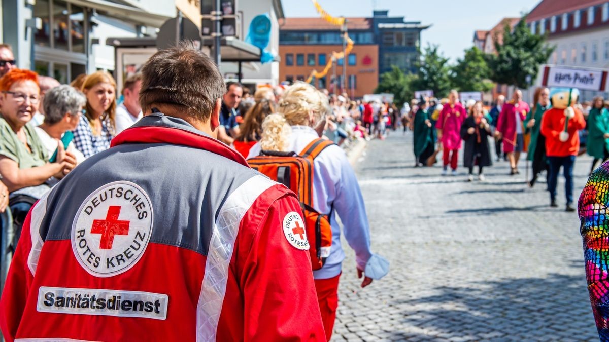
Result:
M576 161L576 198L590 163ZM519 169L495 162L485 182L467 183L462 167L415 169L410 132L368 142L356 170L373 251L391 270L362 290L344 243L333 340L598 340L564 183L549 208L545 184L527 188L525 161Z

